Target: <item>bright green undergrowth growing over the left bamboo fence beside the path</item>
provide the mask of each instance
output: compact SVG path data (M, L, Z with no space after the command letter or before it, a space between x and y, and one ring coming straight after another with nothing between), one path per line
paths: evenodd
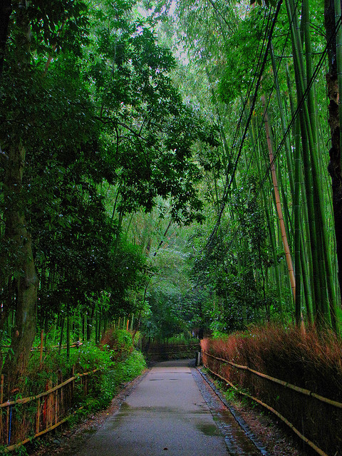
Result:
M76 380L73 382L73 398L68 404L70 409L68 412L71 414L68 422L73 425L88 413L104 408L125 383L140 375L146 367L142 353L133 350L132 336L128 331L117 330L111 333L110 341L113 348L85 343L72 351L69 361L54 350L49 352L40 364L38 353L33 353L26 376L18 385L20 392L14 399L37 395L46 390L46 385L50 384L48 382L56 385L58 382L61 383L61 380L76 375ZM84 386L77 378L77 374L94 369L97 371L87 377L85 396ZM36 405L34 403L32 407L30 404L18 405L15 413L19 420L22 414L23 420L29 422L32 416L36 417Z

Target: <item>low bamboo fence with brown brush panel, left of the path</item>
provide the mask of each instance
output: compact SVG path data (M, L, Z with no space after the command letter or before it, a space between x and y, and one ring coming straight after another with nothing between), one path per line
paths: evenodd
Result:
M30 442L46 432L50 432L68 420L76 408L75 385L78 383L78 393L84 397L88 394L88 375L98 369L85 373L74 373L63 380L58 373L58 382L53 386L52 380L47 380L43 393L7 400L4 402L4 375L1 375L0 385L0 445L5 452L11 452L21 445ZM26 405L26 408L24 408Z

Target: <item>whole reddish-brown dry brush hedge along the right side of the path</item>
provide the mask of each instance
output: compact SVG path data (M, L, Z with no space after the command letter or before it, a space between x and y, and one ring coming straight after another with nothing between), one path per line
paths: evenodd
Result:
M341 340L267 326L204 339L202 351L209 354L204 364L211 371L274 408L327 455L342 454Z

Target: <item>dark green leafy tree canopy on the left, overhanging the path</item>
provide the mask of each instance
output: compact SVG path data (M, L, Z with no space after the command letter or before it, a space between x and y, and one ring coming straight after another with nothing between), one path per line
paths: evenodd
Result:
M0 214L5 225L8 207L25 214L47 331L62 312L86 310L92 321L135 311L149 271L122 232L125 214L150 212L159 198L177 223L204 217L193 153L198 142L216 147L216 130L182 102L169 75L175 58L135 7L53 1L47 10L36 0L10 18L0 146L6 155L24 145L26 160L20 192L7 194L11 170L0 169ZM17 244L0 230L6 313L25 270Z

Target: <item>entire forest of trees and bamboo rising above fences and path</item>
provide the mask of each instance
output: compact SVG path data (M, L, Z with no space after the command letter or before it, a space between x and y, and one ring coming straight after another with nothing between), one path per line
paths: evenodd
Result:
M341 11L260 3L1 6L5 373L119 318L340 331Z

